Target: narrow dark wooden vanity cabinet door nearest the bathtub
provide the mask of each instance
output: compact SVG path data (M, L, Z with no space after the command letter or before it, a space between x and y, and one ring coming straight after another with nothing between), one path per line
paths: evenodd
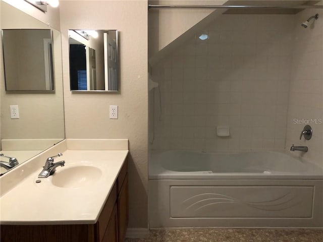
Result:
M129 218L128 200L129 195L127 173L118 197L119 242L123 242L126 236Z

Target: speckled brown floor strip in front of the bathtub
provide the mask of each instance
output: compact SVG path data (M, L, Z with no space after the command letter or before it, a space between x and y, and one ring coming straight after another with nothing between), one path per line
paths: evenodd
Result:
M323 242L319 229L160 229L125 242Z

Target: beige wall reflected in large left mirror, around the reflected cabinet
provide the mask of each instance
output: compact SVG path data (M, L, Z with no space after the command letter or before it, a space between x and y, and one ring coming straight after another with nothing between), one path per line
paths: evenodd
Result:
M38 10L39 11L39 10ZM15 16L19 21L13 21ZM22 23L22 25L21 25ZM1 2L1 27L4 29L48 28L31 16ZM4 65L0 57L1 84L1 139L64 139L64 110L62 86L62 49L61 34L53 30L53 56L55 69L55 93L51 94L14 94L6 93L4 82ZM0 44L2 46L2 43ZM1 55L2 55L2 47ZM7 68L7 67L6 67ZM10 118L10 105L19 106L19 119Z

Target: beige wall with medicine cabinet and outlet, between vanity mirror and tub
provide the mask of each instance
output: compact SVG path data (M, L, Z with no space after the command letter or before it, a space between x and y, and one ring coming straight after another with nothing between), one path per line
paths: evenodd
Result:
M129 227L147 221L147 1L63 1L60 4L67 138L129 139ZM69 29L120 31L118 94L72 94ZM119 118L109 119L109 105Z

